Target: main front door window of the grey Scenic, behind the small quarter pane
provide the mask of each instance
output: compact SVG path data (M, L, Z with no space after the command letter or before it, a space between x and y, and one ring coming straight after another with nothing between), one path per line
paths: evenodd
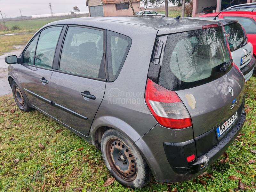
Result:
M36 46L35 65L52 68L55 49L62 27L51 27L41 31Z

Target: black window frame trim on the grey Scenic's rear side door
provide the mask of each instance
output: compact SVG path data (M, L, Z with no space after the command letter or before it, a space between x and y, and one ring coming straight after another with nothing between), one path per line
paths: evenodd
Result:
M81 27L81 28L89 28L89 29L94 29L94 30L98 30L98 31L102 31L103 32L103 60L104 60L104 68L105 68L105 76L106 76L106 49L105 49L105 29L102 28L95 28L95 27L91 27L91 26L84 26L84 25L66 25L66 29L65 29L65 33L64 36L62 38L62 42L59 45L60 46L60 51L58 52L58 66L55 66L55 68L53 69L53 71L55 72L59 72L59 73L64 73L64 74L68 74L68 75L73 75L73 76L79 76L79 77L84 77L84 78L88 78L88 79L94 79L94 80L100 80L100 81L107 81L107 76L103 79L103 78L99 78L99 77L92 77L92 76L86 76L86 75L82 75L82 74L76 74L76 73L72 73L72 72L67 72L67 71L61 71L60 70L60 57L61 57L61 52L63 49L63 45L64 45L64 41L68 32L68 27ZM57 61L56 61L57 62ZM57 68L56 68L57 67Z

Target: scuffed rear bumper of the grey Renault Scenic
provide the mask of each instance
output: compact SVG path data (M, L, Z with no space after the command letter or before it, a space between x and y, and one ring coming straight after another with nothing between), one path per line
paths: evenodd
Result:
M196 156L190 163L187 163L186 157L196 154L192 127L174 130L157 124L134 145L144 156L157 182L191 180L225 152L240 133L245 117L244 110L241 110L236 124L220 142L202 155Z

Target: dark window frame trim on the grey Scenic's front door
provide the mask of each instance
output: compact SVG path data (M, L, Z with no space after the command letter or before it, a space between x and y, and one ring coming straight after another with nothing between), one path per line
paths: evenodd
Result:
M62 27L62 28L61 28L61 31L60 31L60 35L59 35L58 41L57 41L57 45L56 45L56 47L55 47L55 52L54 52L54 56L53 56L53 60L52 60L52 68L46 68L46 67L37 66L37 65L35 65L35 56L36 56L36 48L37 48L37 44L38 44L39 37L40 37L40 35L41 35L41 32L42 32L44 29L52 28L52 27ZM62 34L62 32L63 32L63 28L64 28L64 25L51 25L51 26L47 26L47 27L42 28L41 30L37 31L37 32L35 33L35 35L30 39L29 43L26 45L26 47L23 49L23 51L21 52L21 58L20 58L20 59L21 59L21 63L20 63L20 64L21 64L21 65L25 65L25 66L33 66L33 67L36 67L36 68L41 68L41 69L46 69L46 70L52 71L52 70L53 70L53 64L54 64L54 58L55 58L55 56L56 56L57 46L58 46L59 41L61 40L61 39L60 39L60 36L61 36L61 34ZM36 37L37 35L39 35L39 36L38 36L37 41L36 41L36 48L35 48L35 53L34 53L33 65L32 65L32 64L28 64L28 63L24 63L24 62L23 62L23 60L24 60L24 52L27 50L28 46L31 44L31 42L35 39L35 37Z

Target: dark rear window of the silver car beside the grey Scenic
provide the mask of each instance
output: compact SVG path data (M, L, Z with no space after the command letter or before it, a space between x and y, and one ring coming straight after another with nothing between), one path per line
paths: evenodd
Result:
M239 23L232 23L224 26L230 51L236 51L245 41L244 30Z

